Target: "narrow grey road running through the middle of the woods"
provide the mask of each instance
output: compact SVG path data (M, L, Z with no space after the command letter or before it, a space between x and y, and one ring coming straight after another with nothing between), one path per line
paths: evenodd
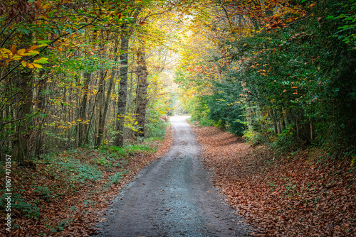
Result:
M169 153L112 203L100 236L246 236L248 226L210 182L187 116L171 118Z

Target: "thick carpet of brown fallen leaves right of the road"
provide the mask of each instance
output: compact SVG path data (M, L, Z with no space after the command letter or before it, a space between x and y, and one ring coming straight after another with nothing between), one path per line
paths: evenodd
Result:
M264 146L214 127L194 127L204 162L256 236L356 236L355 169L317 152L275 158Z

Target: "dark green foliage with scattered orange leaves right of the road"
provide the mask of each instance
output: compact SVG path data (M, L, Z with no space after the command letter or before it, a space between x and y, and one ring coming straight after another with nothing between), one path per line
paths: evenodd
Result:
M177 74L184 87L213 82L209 96L188 104L192 118L209 115L216 126L244 133L251 144L268 141L278 153L304 145L330 154L355 149L355 1L302 5L308 15L288 27L221 38L217 46L224 53L197 62L190 82ZM207 73L211 65L219 69L219 82Z

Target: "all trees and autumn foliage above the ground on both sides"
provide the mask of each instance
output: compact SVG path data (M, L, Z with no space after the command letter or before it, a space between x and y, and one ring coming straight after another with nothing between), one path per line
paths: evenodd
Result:
M354 10L352 0L4 1L1 150L21 160L148 136L172 114L174 74L202 124L253 144L355 153Z

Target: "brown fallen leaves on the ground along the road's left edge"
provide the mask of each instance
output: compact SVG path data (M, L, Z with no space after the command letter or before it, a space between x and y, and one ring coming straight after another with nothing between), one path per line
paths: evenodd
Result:
M164 155L172 145L171 126L167 127L163 142L151 142L150 145L156 146L157 153L133 154L133 158L125 167L125 169L130 169L130 174L120 180L120 183L112 184L108 189L103 189L103 187L108 183L110 176L118 170L103 169L103 177L100 180L78 186L73 192L66 188L66 185L69 185L68 178L58 174L56 179L53 179L48 174L46 165L37 165L36 170L21 167L21 170L11 174L14 185L13 193L21 194L21 199L25 202L39 202L41 214L36 218L31 218L21 215L19 210L12 209L12 214L16 214L16 219L13 219L12 224L18 228L14 228L9 233L4 228L3 218L0 221L2 226L0 236L90 236L95 234L95 225L98 221L103 221L100 216L103 216L121 187L130 182L143 167ZM78 152L80 159L100 155L98 150L91 149L77 150L77 154ZM66 155L66 153L63 154ZM33 192L33 182L36 182L37 186L58 190L58 197L51 199L39 197L36 192ZM89 203L88 200L90 200ZM63 228L58 228L58 226L63 226ZM53 228L56 228L56 231L53 231Z

